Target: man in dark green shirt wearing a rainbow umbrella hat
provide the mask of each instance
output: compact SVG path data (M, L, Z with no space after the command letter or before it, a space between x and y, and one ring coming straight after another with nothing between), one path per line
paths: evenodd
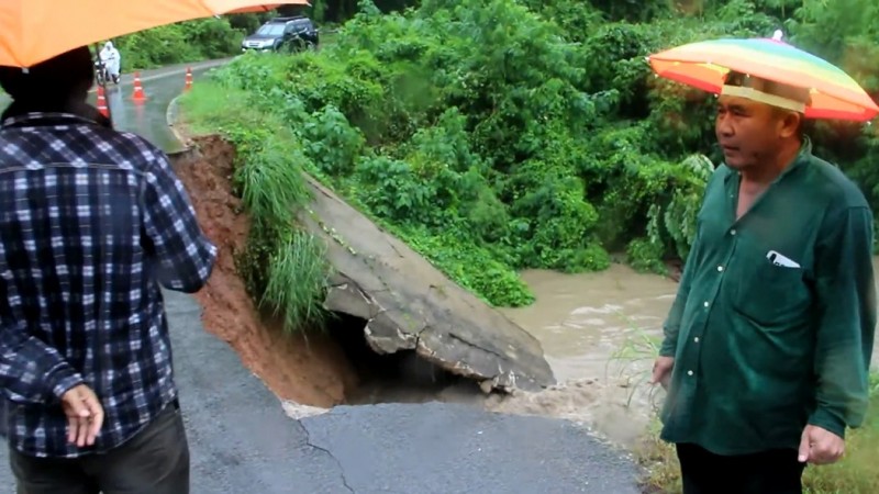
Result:
M731 72L724 153L653 383L685 494L802 492L806 463L836 461L864 420L876 327L872 213L811 154L809 91Z

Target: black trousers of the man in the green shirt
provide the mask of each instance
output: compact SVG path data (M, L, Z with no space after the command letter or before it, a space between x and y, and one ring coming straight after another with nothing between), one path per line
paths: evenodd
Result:
M779 449L723 457L699 446L677 445L683 494L802 494L798 451Z

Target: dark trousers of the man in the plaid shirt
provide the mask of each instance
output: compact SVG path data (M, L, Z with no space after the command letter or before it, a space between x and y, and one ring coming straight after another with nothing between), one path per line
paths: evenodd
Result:
M10 448L18 494L188 494L189 444L177 402L124 445L76 459Z

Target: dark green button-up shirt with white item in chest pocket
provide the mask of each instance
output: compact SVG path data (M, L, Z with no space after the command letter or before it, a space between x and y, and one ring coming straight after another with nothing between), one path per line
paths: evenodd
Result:
M710 179L664 325L661 437L717 454L795 449L806 424L844 437L868 402L872 213L808 139L736 221L739 179Z

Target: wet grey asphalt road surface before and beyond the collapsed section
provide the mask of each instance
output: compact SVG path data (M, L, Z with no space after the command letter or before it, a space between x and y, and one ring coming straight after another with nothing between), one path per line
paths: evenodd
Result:
M205 67L193 66L196 83ZM178 143L166 106L185 67L130 78L111 96L115 124L166 150ZM2 102L0 102L2 103ZM192 493L636 494L636 468L585 428L465 405L340 406L301 420L201 325L193 297L166 292L175 369L192 458ZM0 492L13 492L0 448Z

